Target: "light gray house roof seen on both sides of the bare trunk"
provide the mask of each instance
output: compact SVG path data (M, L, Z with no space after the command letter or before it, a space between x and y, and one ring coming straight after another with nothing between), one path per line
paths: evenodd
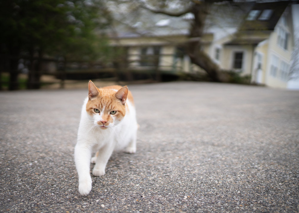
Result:
M205 33L213 33L215 40L236 32L244 14L254 3L213 5L212 12L205 23ZM117 5L116 5L117 7ZM136 13L114 8L115 28L110 37L136 38L144 36L173 36L185 35L190 32L190 22L193 14L187 13L180 17L152 13L139 8ZM121 12L120 12L121 11ZM234 14L227 16L227 14ZM240 18L242 17L242 18Z

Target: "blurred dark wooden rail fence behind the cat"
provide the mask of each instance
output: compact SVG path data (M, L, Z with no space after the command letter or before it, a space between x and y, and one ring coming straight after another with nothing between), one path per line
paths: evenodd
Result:
M71 82L82 82L88 79L101 79L102 81L161 81L165 75L175 76L174 70L182 70L182 67L161 66L159 59L164 55L150 55L149 57L135 55L135 60L116 59L102 63L100 61L65 61L54 58L19 58L19 77L17 82L9 79L9 66L7 61L1 61L0 69L0 89L7 89L8 84L17 84L19 88L40 88L45 85L59 84L60 88ZM169 56L169 55L168 55ZM3 58L2 58L3 59ZM6 60L8 57L6 57ZM39 60L40 66L34 69L34 64ZM138 66L132 66L138 64ZM36 78L30 78L32 75ZM48 76L48 78L45 78Z

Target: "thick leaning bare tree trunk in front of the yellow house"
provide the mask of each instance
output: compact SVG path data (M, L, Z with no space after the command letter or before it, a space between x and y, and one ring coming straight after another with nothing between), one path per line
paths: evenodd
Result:
M222 72L217 64L203 50L202 36L204 33L205 20L207 18L210 2L199 1L192 9L194 21L191 24L187 53L193 64L205 70L212 81L225 82L228 76Z

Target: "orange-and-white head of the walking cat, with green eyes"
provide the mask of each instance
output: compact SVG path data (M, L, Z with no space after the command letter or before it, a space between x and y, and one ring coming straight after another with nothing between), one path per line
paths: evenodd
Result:
M128 88L98 89L92 81L89 81L88 92L86 112L91 116L93 124L101 129L119 124L126 114Z

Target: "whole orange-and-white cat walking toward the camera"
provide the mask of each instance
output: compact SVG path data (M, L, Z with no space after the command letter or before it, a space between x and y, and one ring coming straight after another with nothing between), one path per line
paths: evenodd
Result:
M92 174L102 176L115 148L136 152L137 129L136 110L128 87L97 88L89 81L74 152L80 195L91 191L90 162L95 163ZM93 151L96 154L91 158Z

